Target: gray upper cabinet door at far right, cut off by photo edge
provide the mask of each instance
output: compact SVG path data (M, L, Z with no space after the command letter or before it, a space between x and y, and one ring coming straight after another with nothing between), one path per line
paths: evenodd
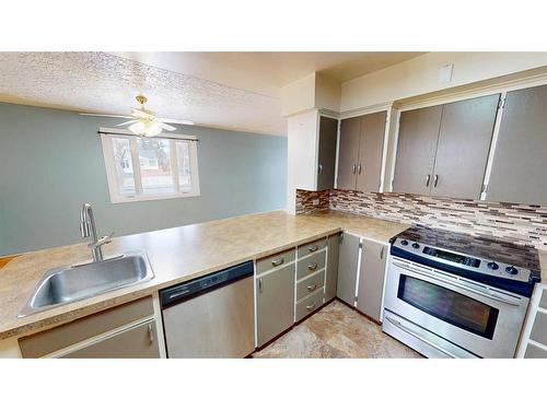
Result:
M547 85L507 94L487 200L547 204Z

